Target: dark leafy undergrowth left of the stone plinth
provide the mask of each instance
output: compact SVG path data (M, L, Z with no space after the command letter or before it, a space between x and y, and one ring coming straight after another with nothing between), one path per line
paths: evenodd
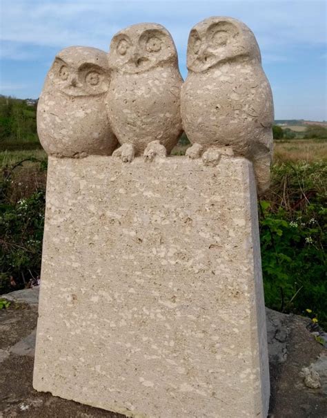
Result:
M39 164L46 169L45 162ZM12 202L12 176L20 165L3 169L0 182L0 293L24 287L41 267L45 191Z

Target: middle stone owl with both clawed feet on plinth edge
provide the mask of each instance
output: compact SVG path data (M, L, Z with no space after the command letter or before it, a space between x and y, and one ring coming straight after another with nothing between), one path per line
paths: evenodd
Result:
M181 135L179 73L174 41L164 26L140 23L118 32L108 55L112 79L106 107L120 148L131 162L170 153Z

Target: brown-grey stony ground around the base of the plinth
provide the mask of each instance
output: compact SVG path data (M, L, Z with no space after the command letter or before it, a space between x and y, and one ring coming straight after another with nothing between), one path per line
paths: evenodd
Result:
M38 290L13 292L6 298L12 304L0 310L0 418L122 417L32 388ZM300 316L267 310L270 418L327 417L327 350L306 325L308 320ZM308 370L300 375L305 367Z

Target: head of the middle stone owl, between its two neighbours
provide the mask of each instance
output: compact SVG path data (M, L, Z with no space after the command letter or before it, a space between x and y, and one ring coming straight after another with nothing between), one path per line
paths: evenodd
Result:
M164 64L177 65L177 50L168 30L139 23L118 32L110 43L109 67L122 73L144 73Z

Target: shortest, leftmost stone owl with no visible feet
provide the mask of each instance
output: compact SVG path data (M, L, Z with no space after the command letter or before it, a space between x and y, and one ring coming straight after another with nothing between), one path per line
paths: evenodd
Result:
M109 83L104 51L71 46L57 54L37 106L37 132L48 154L112 154L118 142L104 104Z

